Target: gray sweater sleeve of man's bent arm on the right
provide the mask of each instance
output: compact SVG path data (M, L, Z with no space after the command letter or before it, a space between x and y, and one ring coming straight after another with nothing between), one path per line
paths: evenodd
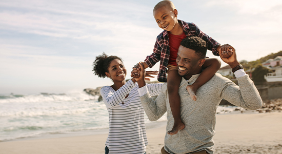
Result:
M237 80L239 86L231 82L225 85L221 92L222 98L245 109L256 110L261 108L263 101L249 76L244 75Z

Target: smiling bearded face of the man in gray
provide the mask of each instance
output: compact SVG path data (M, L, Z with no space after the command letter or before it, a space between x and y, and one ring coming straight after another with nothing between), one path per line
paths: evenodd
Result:
M182 45L178 48L176 63L178 67L178 74L185 79L190 79L192 75L198 74L202 71L202 65L205 59L201 59L195 50L186 48Z

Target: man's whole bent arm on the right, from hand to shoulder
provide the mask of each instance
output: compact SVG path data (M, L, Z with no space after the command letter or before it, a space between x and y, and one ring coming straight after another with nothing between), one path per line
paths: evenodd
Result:
M230 57L223 58L222 51L233 50L233 54ZM246 74L244 69L238 69L240 63L237 61L235 49L230 45L223 45L222 51L219 53L221 60L226 62L232 69L238 80L238 85L228 84L224 87L221 92L223 99L228 102L250 110L256 110L261 108L263 101L254 85L254 83Z

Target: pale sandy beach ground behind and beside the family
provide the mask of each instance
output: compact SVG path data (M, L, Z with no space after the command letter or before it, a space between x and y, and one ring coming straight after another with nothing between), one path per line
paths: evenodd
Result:
M160 153L165 123L148 128L146 153ZM216 115L215 153L282 153L282 113ZM0 153L105 153L107 132L54 138L31 138L0 142Z

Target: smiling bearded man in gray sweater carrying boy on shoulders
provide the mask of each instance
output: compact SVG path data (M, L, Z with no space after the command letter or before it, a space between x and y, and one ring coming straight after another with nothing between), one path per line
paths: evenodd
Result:
M193 101L187 85L193 84L202 72L207 52L206 42L199 37L187 37L181 42L177 53L178 74L183 76L179 86L180 114L185 123L185 128L177 134L165 136L165 146L162 153L214 153L216 108L222 99L246 109L255 110L262 106L263 102L259 93L245 73L243 66L236 59L235 49L230 45L224 45L222 52L233 50L228 58L220 58L234 71L239 86L229 79L216 73L213 78L200 87L197 91L197 100ZM161 93L154 101L148 93L144 80L144 67L140 65L140 77L138 78L140 100L150 121L156 121L167 111L167 131L171 130L174 120L172 117L167 83L163 84Z

